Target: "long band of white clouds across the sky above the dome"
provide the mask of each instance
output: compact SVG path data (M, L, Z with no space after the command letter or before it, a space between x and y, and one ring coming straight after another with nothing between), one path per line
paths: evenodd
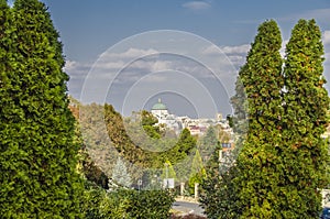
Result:
M106 52L95 64L67 61L66 72L72 78L70 94L77 97L80 96L82 88L87 89L82 87L86 83L98 85L92 92L97 92L99 88L109 87L111 81L116 89L124 91L141 79L145 79L151 85L156 81L165 83L166 75L170 72L187 74L201 81L213 81L218 77L224 85L233 85L237 70L232 68L232 64L240 66L245 59L248 50L249 45L205 46L205 48L197 50L196 57L199 58L191 59L189 55L188 58L177 54L162 55L154 47L146 50L128 47L119 52ZM160 74L152 75L153 73Z

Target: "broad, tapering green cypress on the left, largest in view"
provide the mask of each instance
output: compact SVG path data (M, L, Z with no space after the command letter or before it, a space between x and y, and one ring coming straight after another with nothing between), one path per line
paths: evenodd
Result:
M16 0L10 99L1 114L0 215L77 218L82 187L76 173L74 117L68 109L58 33L44 3Z

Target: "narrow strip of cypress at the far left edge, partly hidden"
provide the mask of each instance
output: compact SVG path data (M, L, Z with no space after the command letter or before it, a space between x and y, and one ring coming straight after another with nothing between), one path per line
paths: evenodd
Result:
M14 35L12 11L6 0L0 0L0 215L3 218L14 217L25 201L22 188L16 185L18 178L28 177L24 176L26 153L18 143L23 112L14 98L20 89L20 78L14 74L18 65Z

